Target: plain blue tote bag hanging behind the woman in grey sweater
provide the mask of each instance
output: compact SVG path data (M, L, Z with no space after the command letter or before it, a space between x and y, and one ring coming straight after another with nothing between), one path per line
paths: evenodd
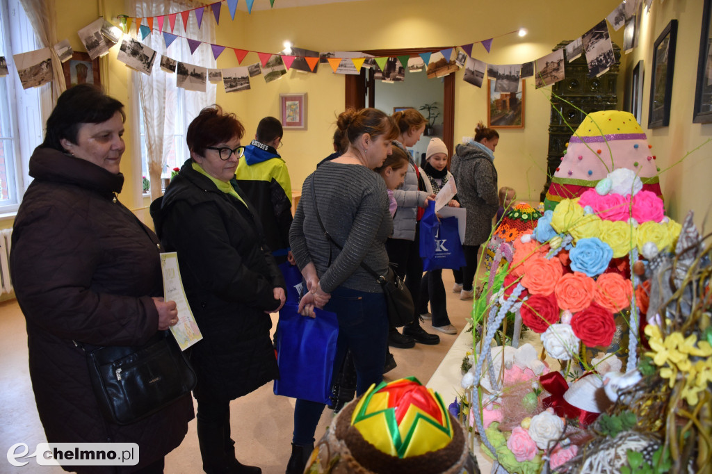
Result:
M334 312L316 309L313 318L297 308L286 303L279 312L274 393L329 404L339 322Z

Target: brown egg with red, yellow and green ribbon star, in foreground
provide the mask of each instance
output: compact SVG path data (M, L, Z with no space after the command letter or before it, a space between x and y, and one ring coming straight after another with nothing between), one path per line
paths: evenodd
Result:
M307 473L478 473L459 422L414 377L382 382L345 406Z

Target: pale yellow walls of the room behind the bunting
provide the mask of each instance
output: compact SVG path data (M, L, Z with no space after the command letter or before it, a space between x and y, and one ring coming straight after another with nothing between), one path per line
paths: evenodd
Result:
M96 19L100 13L107 18L125 13L122 0L81 3L82 7L77 8L75 0L56 0L58 38L70 38L73 48L79 51L83 50L76 35L79 28ZM282 43L287 39L295 46L316 51L447 47L480 41L524 26L529 30L524 39L515 34L495 38L489 54L480 44L473 48L473 56L486 62L521 63L544 56L560 41L585 33L618 3L619 0L587 2L586 11L581 11L578 2L567 0L545 1L535 9L530 1L525 0L508 1L506 9L496 2L471 0L365 0L253 11L251 15L238 11L235 21L231 21L229 12L224 9L221 26L216 29L216 43L265 52L281 51ZM655 1L651 13L644 15L639 48L622 58L620 103L624 93L624 72L629 73L639 58L644 59L643 126L663 168L712 135L712 125L692 124L701 10L701 0L666 1L664 4ZM205 19L208 16L206 14ZM647 130L651 44L671 18L680 21L671 125ZM612 39L620 45L622 29L612 32L612 35ZM125 65L115 59L116 48L102 60L103 82L111 95L130 105L130 75ZM249 53L243 65L257 61L256 54ZM218 59L219 68L236 65L237 60L229 49ZM465 83L462 72L456 74L454 125L455 141L459 142L462 137L472 135L478 120L486 120L487 95L485 88L478 89ZM281 80L270 84L264 83L261 77L253 78L252 89L246 92L225 94L219 87L217 102L241 117L247 130L245 141L248 141L253 137L261 117L279 117L279 94L308 94L308 130L286 131L286 144L280 150L288 163L293 188L300 189L301 182L315 164L331 152L333 124L344 106L344 84L342 76L333 75L328 64L321 64L316 75L289 71ZM548 95L548 89L535 90L533 81L528 80L525 128L500 132L496 153L500 184L515 187L522 199L538 200L543 189L550 116ZM127 120L133 120L135 111L128 107L127 112ZM132 146L131 135L127 130L128 150ZM707 181L712 176L712 162L706 159L711 149L706 147L661 178L669 212L674 218L681 218L686 209L696 209L696 221L701 223L704 212L709 209L710 193L698 190L706 189L703 180ZM140 184L135 179L130 159L122 161L122 172L127 177L122 201L132 209L144 206L142 201L134 202L132 198L134 186Z

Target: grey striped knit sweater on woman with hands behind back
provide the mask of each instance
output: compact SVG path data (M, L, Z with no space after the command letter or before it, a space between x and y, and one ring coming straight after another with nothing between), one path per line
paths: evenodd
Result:
M315 180L319 214L339 250L324 235L314 211ZM393 227L382 177L357 164L326 162L304 180L302 196L289 231L289 243L300 269L313 262L321 288L331 293L343 285L379 293L381 285L360 267L364 261L379 275L388 267L385 241Z

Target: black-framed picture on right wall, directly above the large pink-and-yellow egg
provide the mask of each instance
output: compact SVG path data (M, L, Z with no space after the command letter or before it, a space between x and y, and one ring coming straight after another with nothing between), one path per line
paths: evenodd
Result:
M675 43L677 20L670 23L655 40L653 67L650 75L650 110L648 128L667 127L670 124L672 76L675 69Z

